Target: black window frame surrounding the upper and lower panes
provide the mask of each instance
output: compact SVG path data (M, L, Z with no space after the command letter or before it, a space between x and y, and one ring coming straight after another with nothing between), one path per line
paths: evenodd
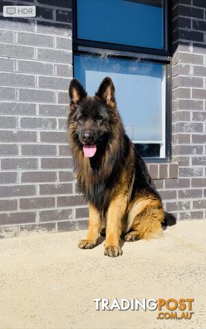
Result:
M107 58L120 58L165 64L166 66L166 129L165 129L165 158L144 158L146 162L170 162L171 160L171 59L170 59L170 0L164 3L164 49L136 47L77 38L77 1L72 0L73 14L73 76L75 73L74 56L90 55ZM146 143L145 143L146 144Z

